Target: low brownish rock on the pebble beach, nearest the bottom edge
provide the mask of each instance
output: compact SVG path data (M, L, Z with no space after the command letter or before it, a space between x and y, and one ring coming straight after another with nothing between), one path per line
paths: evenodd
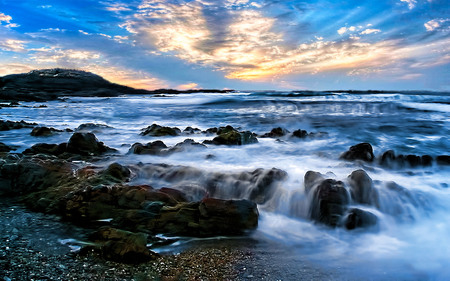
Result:
M101 227L89 237L99 244L103 257L122 263L142 263L158 255L147 249L147 235L111 227Z

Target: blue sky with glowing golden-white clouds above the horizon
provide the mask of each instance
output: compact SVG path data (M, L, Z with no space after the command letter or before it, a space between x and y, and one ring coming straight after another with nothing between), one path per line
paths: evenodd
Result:
M143 89L450 91L448 0L0 0L0 76Z

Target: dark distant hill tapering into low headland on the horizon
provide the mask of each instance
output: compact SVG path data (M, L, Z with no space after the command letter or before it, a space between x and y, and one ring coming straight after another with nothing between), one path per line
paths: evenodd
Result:
M111 83L99 75L74 69L41 69L0 77L0 100L48 101L65 96L117 97L120 95L180 94L228 90L139 90Z

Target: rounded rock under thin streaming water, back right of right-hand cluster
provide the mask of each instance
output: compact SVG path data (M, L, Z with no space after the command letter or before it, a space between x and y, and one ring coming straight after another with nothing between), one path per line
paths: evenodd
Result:
M373 187L372 179L364 170L352 172L348 179L353 201L379 207L378 192Z

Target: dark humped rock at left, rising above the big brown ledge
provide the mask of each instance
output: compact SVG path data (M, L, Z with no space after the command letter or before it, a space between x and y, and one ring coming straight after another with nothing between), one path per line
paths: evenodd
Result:
M99 142L93 133L74 133L67 143L67 152L80 155L100 155L115 151Z

